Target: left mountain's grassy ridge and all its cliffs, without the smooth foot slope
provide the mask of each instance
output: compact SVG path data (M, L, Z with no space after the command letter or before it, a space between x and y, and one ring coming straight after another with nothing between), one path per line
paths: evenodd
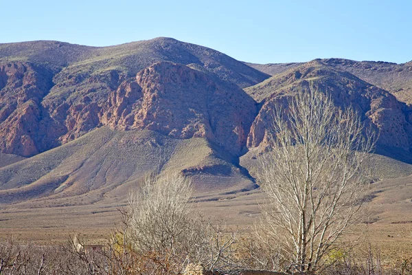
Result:
M163 61L181 67L150 67ZM168 38L113 47L0 44L0 152L30 157L108 124L204 136L238 154L256 112L240 87L267 77L215 50ZM218 112L233 115L231 124Z

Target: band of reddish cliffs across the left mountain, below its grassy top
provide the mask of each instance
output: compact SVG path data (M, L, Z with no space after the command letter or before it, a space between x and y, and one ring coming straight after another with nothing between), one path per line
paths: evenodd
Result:
M179 139L206 137L238 155L257 113L242 89L185 65L155 63L129 80L111 71L102 79L59 74L29 63L0 66L2 153L36 155L108 125Z

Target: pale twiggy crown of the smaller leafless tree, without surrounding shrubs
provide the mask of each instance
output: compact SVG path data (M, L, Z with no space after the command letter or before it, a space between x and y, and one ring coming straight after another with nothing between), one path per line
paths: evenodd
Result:
M189 226L191 195L190 180L181 175L150 175L140 190L130 193L130 229L135 248L172 249Z

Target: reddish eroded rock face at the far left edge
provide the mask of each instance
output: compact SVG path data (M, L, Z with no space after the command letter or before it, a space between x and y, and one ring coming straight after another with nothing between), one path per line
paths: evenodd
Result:
M49 130L47 112L41 105L52 86L52 76L48 69L30 63L0 64L1 153L27 157L52 145L43 139Z

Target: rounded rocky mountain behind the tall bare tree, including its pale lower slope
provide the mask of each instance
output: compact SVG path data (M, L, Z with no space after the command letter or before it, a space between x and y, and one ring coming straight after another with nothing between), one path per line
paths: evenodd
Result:
M271 115L275 106L285 105L290 95L310 86L325 91L336 107L354 108L364 124L379 133L375 151L378 155L368 163L375 177L400 177L411 173L412 108L389 91L336 69L323 60L314 60L244 89L260 103L260 111L247 138L248 153L240 158L240 164L252 176L257 175L259 159L269 146Z

